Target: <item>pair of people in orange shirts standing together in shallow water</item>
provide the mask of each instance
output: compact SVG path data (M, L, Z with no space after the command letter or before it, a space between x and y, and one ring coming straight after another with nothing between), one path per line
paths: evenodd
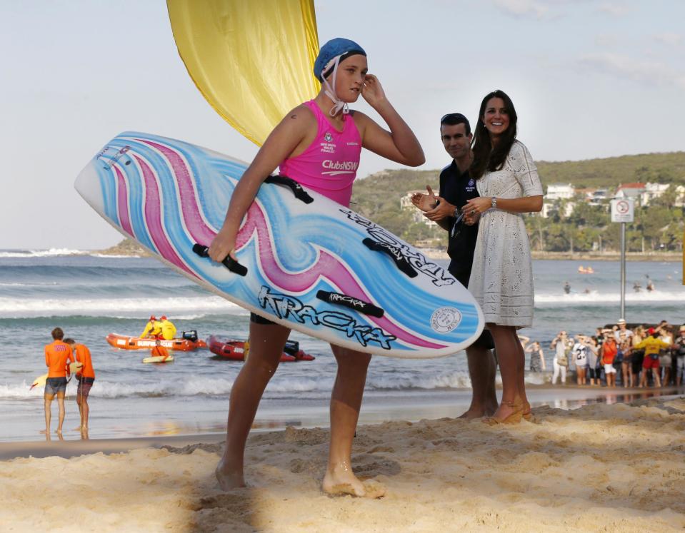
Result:
M66 415L66 407L64 405L66 385L71 380L71 363L76 362L79 363L76 365L78 367L76 380L79 382L79 387L76 390L76 405L79 406L80 417L79 427L76 430L81 432L82 438L87 439L88 395L95 381L91 352L86 345L79 344L71 338L64 338L64 331L61 328L54 328L52 330L52 340L53 342L45 347L45 365L48 367L48 375L44 391L45 430L41 431L41 433L44 433L46 438L50 438L51 406L52 401L56 397L59 407L56 433L61 438L62 425L64 425L64 417Z

